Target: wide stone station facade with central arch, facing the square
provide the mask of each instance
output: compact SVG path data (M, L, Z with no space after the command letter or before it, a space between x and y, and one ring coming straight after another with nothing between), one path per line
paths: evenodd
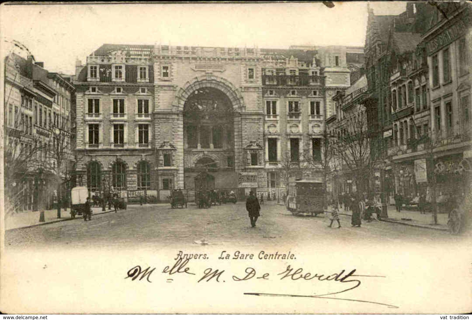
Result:
M281 197L287 165L320 159L332 97L359 59L346 47L104 44L76 65L76 183L160 200L177 188Z

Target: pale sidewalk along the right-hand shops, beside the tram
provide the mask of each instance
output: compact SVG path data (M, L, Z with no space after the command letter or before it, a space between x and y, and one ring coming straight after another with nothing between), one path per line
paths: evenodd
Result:
M345 211L343 209L339 210L340 214L347 216L352 216L352 211ZM438 224L433 224L433 215L431 212L426 212L421 214L420 211L409 211L402 210L397 212L395 206L387 207L388 218L380 219L382 221L388 221L393 223L399 223L403 225L413 226L413 227L422 227L435 230L444 230L447 231L447 213L438 212Z

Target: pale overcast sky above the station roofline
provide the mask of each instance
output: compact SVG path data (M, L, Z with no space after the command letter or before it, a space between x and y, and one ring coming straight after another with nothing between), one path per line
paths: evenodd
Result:
M406 2L371 2L378 15ZM363 46L367 2L56 4L0 8L2 48L16 40L53 72L73 74L76 58L103 43L288 48ZM6 42L8 41L8 42ZM5 52L2 52L4 55Z

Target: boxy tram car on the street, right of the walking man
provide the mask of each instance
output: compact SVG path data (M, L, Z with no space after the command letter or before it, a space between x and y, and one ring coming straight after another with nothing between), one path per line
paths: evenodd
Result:
M324 189L321 181L297 180L288 184L287 209L294 215L324 212Z

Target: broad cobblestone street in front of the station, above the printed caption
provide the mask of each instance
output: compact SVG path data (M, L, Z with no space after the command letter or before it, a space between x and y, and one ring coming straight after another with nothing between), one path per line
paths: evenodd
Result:
M283 206L264 204L257 227L252 228L243 202L223 204L210 209L197 209L189 204L186 209L170 209L170 205L129 206L118 211L83 219L62 221L6 232L7 248L44 246L125 246L141 244L153 246L209 244L209 245L280 245L320 243L380 244L444 243L457 240L447 232L389 222L364 222L362 227L350 226L350 217L341 215L329 228L329 214L318 217L294 216ZM203 241L203 242L202 242Z

